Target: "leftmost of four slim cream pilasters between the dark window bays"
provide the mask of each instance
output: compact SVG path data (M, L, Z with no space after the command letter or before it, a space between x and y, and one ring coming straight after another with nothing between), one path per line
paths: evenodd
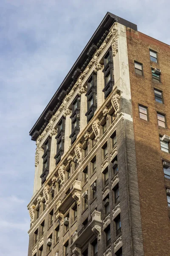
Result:
M50 133L50 137L51 137L51 149L50 149L50 168L49 168L49 173L54 171L54 168L56 166L55 164L55 159L54 156L57 152L57 141L55 139L57 135L57 131L56 129L53 129Z

